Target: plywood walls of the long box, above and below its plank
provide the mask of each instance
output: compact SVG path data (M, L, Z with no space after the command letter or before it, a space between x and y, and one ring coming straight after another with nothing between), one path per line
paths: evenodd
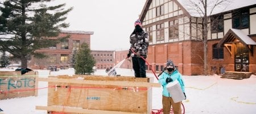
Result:
M87 81L116 81L144 83L150 78L135 77L105 77L105 76L57 76L56 80L83 77ZM53 77L50 77L53 80ZM131 113L148 112L148 88L134 85L101 85L101 84L75 84L69 82L49 82L48 106L67 106L82 109L121 111ZM80 82L78 82L80 83ZM150 93L151 94L151 93ZM151 99L150 99L151 100ZM150 109L151 110L151 109Z

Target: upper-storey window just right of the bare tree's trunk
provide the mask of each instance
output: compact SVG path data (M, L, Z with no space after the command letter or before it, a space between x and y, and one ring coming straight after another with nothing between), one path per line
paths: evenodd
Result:
M211 23L210 28L212 33L223 32L223 28L224 28L223 15L211 17L210 23Z

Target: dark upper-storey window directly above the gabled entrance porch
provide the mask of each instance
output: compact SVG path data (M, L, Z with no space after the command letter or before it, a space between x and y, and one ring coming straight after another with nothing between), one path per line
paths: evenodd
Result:
M248 28L249 27L249 10L237 10L232 13L233 28Z

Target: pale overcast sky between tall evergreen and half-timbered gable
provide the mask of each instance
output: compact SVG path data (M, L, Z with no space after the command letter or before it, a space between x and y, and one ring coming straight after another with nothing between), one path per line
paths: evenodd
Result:
M57 2L60 2L58 0ZM61 0L73 7L66 20L67 30L94 32L92 50L128 50L134 21L139 18L146 0Z

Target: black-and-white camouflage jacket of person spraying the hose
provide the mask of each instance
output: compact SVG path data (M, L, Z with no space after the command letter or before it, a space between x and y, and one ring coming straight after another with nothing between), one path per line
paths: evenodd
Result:
M129 53L133 54L134 52L139 57L143 56L144 58L147 58L147 47L148 47L148 34L147 32L144 32L144 30L141 33L138 34L131 34L130 35L130 50ZM134 51L132 51L132 50Z

